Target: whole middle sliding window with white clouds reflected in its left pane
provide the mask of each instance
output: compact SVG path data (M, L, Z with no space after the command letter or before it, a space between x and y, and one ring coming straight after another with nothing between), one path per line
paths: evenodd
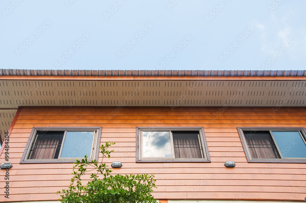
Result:
M136 162L210 162L203 127L137 127Z

